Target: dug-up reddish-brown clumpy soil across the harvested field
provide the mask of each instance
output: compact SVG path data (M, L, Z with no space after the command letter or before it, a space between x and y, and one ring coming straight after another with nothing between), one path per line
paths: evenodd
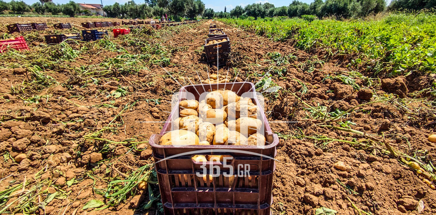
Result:
M98 19L0 18L0 32L5 32L5 24L17 22L70 22L77 29L82 29L81 22L94 20ZM0 153L9 153L10 157L20 153L27 155L20 163L7 156L8 159L1 157L0 173L3 180L0 181L0 188L7 188L12 180L21 183L29 180L31 185L37 181L49 180L53 181L47 188L49 192L62 190L68 193L66 199L55 198L45 209L40 208L36 212L39 215L127 215L144 212L136 210L143 199L140 194L128 196L117 207L102 211L82 210L83 205L91 199L105 200L96 189L106 188L111 177L153 162L150 146L146 143L136 146L136 149L127 144L112 145L109 146L112 151L99 153L100 146L84 141L83 136L108 125L114 117L121 124L116 115L126 104L135 100L138 102L121 114L124 125L118 127L119 132L106 132L104 138L123 141L135 137L138 141L143 141L148 140L151 134L159 133L164 124L159 121L167 119L172 93L180 89L178 83L199 84L201 79L208 77L207 71L216 72L216 67L208 67L201 56L201 46L207 38L210 22L182 26L178 28L180 30L177 34L168 33L157 39L164 46L184 47L173 53L172 65L166 68L151 66L150 71L144 70L85 87L80 83L72 83L74 78L67 71L46 71L51 72L51 76L60 85L53 85L40 92L40 95L52 96L38 104L25 103L20 99L23 95L11 93L11 85L27 80L26 69L0 68L0 92L3 94L3 98L0 98L3 117L0 126ZM352 203L361 210L378 215L417 214L419 200L425 205L422 214L436 213L436 191L422 181L422 176L401 164L394 156L380 150L384 146L296 138L300 135L299 128L308 137L317 135L347 141L364 138L356 133L317 126L320 119L310 116L307 106L296 96L311 106L325 106L328 107L328 112L332 112L335 109L347 110L368 101L379 100L387 93L395 93L405 99L395 101L405 101L409 110L400 107L394 100L359 106L347 116L347 120L356 124L350 127L365 134L384 134L385 141L395 150L409 155L418 154L434 162L435 143L427 140L428 135L435 132L434 123L431 124L435 120L434 107L432 110L423 103L426 102L425 99L412 99L411 96L411 93L426 87L409 86L410 82L404 77L386 78L380 82L373 79L371 86L365 85L364 78L355 78L356 84L364 88L360 91L339 79L326 79L322 82L327 75L347 74L350 71L333 62L326 62L314 65L313 72L308 72L307 64L302 64L311 59L311 55L306 52L297 50L290 44L274 42L222 23L217 24L224 28L232 44L228 66L220 68L218 73L228 74L232 80L258 82L262 76L252 74L262 73L272 65L267 60L268 52L277 51L282 55L296 56L295 60L285 65L283 77L272 77L273 82L283 89L277 95L265 93L269 121L274 122L270 125L274 132L281 134L276 157L280 162L276 163L272 191L274 214L314 214L319 207L334 209L339 215L358 214ZM50 27L46 32L38 34L52 31L53 28ZM68 32L72 31L65 31ZM41 38L34 40L42 42ZM28 44L32 42L27 41ZM71 62L71 66L93 65L116 55L114 52L103 51L98 55L76 59ZM238 77L235 76L234 69L238 72ZM174 74L178 83L169 78L167 71ZM307 92L302 91L304 86L301 83L307 87ZM67 88L66 85L72 88ZM108 97L107 92L117 89L119 85L128 87L129 93L119 99ZM295 92L296 96L290 92ZM162 100L161 104L155 104L146 99ZM95 107L99 104L110 104L114 108ZM18 120L12 120L14 118ZM156 123L138 123L141 121ZM378 138L382 140L383 137ZM94 164L101 160L105 161ZM348 171L335 168L334 163L337 161L349 165ZM42 173L41 176L35 177L38 172ZM94 180L87 173L95 174L98 178L95 177ZM65 181L72 178L78 182L68 187ZM10 202L12 201L9 200L8 203ZM150 210L145 213L154 212Z

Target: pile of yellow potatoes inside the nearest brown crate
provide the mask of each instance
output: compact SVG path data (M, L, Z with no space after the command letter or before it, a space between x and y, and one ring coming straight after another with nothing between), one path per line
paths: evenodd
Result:
M161 145L265 145L260 109L250 98L215 90L200 102L183 100L179 108L180 117L160 138Z

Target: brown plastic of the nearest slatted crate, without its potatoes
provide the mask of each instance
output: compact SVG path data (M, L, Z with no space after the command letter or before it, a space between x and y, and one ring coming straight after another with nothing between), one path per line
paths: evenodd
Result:
M179 91L178 102L186 99L188 93L192 93L196 100L200 95L209 90L229 89L238 96L248 93L255 104L260 104L257 99L255 86L250 82L235 82L206 85L188 85ZM247 96L247 95L245 95ZM272 181L273 172L276 168L273 159L256 155L245 154L241 151L230 152L205 152L195 153L197 150L243 150L254 152L269 157L276 156L276 146L279 139L272 133L266 119L262 106L259 106L259 116L263 119L264 136L268 143L265 147L256 146L228 146L228 145L159 145L160 137L171 130L171 119L177 116L179 111L178 102L172 110L160 134L153 134L150 137L150 146L153 151L153 158L156 163L155 168L159 181L162 203L165 214L255 214L269 215L272 203ZM172 157L181 153L194 153L204 155L230 155L233 157L230 166L236 172L239 164L250 165L250 177L235 176L233 183L228 177L222 174L213 177L212 183L209 180L203 181L202 177L196 175L201 171L201 163L193 162L193 154ZM163 160L165 159L165 160ZM208 162L209 164L222 165L221 162ZM207 165L208 166L208 165ZM229 173L229 169L221 166L223 172ZM233 172L233 173L235 173ZM207 171L208 174L211 172ZM231 173L232 174L232 173ZM208 177L208 175L206 176ZM249 212L249 213L247 213Z

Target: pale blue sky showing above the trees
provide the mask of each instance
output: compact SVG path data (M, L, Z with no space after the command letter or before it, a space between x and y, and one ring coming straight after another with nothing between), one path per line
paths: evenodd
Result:
M6 0L9 1L9 0ZM70 0L53 0L54 3L67 3ZM124 4L126 2L128 2L129 0L102 0L103 1L103 5L107 5L107 4L113 4L115 2ZM292 0L221 0L221 1L217 1L217 0L202 0L206 6L206 8L212 8L215 11L224 11L224 7L227 7L227 12L229 12L230 10L232 10L234 7L241 5L242 7L245 7L245 5L247 4L252 4L252 3L272 3L274 4L274 6L276 7L281 7L281 6L288 6ZM313 2L313 0L300 0L302 2L305 3L311 3ZM391 0L388 0L388 2L390 2ZM39 2L39 0L24 0L25 3L27 4L33 4L35 2ZM78 1L75 0L75 2L77 3L100 3L100 0L85 0L85 1ZM143 0L135 0L136 3L143 3Z

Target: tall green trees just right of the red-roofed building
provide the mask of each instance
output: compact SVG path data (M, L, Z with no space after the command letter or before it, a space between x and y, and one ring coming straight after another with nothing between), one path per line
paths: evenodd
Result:
M131 0L124 4L106 5L103 10L114 18L145 19L167 14L172 20L180 20L181 17L194 19L203 14L204 3L201 0L145 0L145 3L136 4Z

